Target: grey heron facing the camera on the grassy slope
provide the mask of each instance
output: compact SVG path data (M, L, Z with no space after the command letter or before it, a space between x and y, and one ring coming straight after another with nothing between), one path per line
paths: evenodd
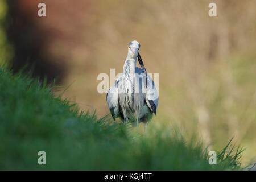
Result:
M106 102L114 120L121 118L133 127L143 122L146 133L148 122L153 113L156 114L158 93L139 55L140 47L141 44L136 40L129 43L123 72L109 88ZM137 58L141 68L136 67Z

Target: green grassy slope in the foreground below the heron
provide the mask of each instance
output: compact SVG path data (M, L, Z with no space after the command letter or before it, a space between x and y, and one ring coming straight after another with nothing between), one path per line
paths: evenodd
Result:
M51 87L0 68L0 169L229 170L242 169L230 143L209 165L207 150L177 129L134 134L122 123L79 113ZM38 151L46 151L46 165ZM231 152L228 152L231 151Z

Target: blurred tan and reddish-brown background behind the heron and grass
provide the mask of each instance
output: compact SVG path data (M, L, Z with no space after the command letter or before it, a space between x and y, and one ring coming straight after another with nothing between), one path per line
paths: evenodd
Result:
M97 76L122 72L131 40L148 73L159 73L152 122L178 124L212 150L234 137L246 148L242 162L256 161L255 0L0 0L0 64L68 87L63 97L98 118L109 109Z

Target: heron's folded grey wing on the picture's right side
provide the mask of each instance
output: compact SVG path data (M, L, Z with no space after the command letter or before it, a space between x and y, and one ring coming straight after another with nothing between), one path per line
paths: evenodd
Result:
M147 106L150 108L152 112L156 114L156 109L158 108L158 93L156 91L155 83L152 78L147 74L144 74L141 68L136 67L135 72L139 74L142 78L139 82L139 85L142 85L142 93L145 93L145 100Z

